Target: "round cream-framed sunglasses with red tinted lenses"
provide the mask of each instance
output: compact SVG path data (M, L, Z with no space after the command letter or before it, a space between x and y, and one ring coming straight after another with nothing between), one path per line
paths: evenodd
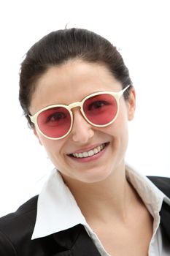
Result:
M118 92L99 91L69 105L50 105L29 117L36 129L51 140L65 138L71 132L72 108L80 107L82 116L93 127L107 127L117 118L120 97L128 87Z

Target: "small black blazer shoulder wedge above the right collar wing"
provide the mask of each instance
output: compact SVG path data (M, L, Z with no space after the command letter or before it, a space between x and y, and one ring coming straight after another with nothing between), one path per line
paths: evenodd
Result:
M170 197L170 178L159 176L147 176L165 195Z

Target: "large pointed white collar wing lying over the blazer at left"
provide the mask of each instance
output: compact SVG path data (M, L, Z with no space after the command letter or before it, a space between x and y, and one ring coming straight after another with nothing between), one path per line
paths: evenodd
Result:
M39 194L31 239L48 236L79 223L85 225L85 218L60 173L54 169Z

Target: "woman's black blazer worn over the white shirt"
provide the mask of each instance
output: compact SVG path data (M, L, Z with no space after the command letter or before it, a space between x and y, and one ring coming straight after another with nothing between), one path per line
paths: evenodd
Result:
M170 178L148 177L170 197ZM99 256L100 253L86 233L77 225L44 238L31 240L36 220L38 196L32 197L15 213L0 218L1 256ZM163 202L161 227L170 243L170 206Z

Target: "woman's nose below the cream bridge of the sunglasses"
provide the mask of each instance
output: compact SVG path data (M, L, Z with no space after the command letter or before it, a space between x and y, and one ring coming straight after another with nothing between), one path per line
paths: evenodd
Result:
M93 137L93 127L82 116L80 108L73 110L72 140L77 143L88 143Z

